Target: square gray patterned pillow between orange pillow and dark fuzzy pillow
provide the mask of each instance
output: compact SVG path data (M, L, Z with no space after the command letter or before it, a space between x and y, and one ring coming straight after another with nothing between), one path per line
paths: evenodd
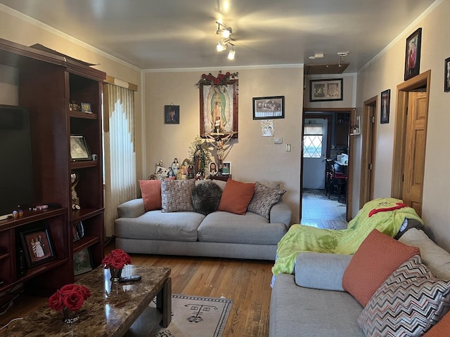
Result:
M194 185L195 179L162 180L162 212L193 211L191 193Z

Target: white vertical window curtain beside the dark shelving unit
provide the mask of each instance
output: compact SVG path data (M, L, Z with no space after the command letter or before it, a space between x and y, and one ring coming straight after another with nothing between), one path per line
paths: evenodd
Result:
M136 198L134 91L103 84L105 236L114 234L117 206Z

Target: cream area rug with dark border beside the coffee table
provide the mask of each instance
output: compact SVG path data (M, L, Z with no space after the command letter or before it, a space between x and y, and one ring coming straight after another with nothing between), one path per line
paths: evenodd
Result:
M153 305L155 305L153 303ZM172 322L154 337L220 337L233 300L172 294Z

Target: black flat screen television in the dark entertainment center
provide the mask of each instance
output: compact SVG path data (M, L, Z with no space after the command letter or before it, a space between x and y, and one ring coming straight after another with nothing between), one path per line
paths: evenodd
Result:
M25 107L0 105L0 218L33 203L30 118Z

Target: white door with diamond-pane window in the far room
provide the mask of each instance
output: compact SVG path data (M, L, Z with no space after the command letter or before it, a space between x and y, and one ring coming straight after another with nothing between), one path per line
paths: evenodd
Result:
M327 119L304 119L303 188L325 189Z

